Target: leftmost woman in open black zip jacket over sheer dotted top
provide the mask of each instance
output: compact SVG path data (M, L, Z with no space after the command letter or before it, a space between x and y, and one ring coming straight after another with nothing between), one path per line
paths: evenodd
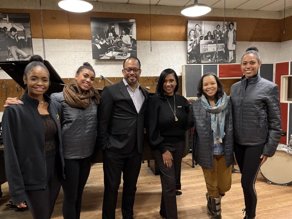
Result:
M17 207L30 207L33 218L50 218L61 188L62 108L44 93L50 74L36 55L24 70L27 85L21 101L2 117L6 176L9 193ZM64 175L63 175L64 176Z

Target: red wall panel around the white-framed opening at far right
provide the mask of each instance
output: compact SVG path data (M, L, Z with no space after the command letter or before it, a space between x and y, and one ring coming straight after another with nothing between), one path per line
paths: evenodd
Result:
M276 63L275 83L279 86L280 95L281 95L281 92L280 92L280 90L281 90L281 75L289 75L289 62ZM287 131L288 103L280 103L280 106L281 106L282 130ZM287 143L287 136L281 137L280 143L286 144Z

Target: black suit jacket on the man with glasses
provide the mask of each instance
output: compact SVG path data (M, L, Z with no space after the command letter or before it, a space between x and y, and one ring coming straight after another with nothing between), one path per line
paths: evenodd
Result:
M104 150L127 154L137 145L140 154L143 152L144 117L149 94L141 89L145 100L140 112L121 81L118 84L104 87L97 113L98 144Z

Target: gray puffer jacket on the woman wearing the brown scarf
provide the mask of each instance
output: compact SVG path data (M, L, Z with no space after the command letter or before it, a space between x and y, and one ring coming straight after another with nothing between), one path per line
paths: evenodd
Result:
M72 108L63 96L63 92L51 94L63 109L62 138L65 159L87 158L92 155L96 141L97 105L87 108Z

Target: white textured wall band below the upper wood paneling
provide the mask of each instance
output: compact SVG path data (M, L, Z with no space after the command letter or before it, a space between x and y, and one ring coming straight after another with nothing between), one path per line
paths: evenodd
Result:
M289 41L287 41L289 42ZM292 42L290 42L292 44ZM247 47L256 46L263 63L274 63L280 59L280 43L271 42L238 42L237 63ZM291 47L291 45L290 45ZM50 61L61 78L73 78L76 70L87 61L96 70L96 76L122 77L122 60L93 60L91 40L45 40L46 59ZM141 61L142 76L158 76L165 68L173 68L182 75L182 65L187 64L185 41L137 41L137 57ZM43 56L41 39L33 39L33 52ZM287 51L288 52L288 51ZM0 79L10 77L0 70Z

